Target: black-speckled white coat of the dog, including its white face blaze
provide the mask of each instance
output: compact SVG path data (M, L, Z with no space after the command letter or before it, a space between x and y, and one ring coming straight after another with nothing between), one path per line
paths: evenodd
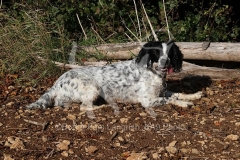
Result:
M165 59L165 65L168 58L167 45L163 43L161 47L164 54L159 56L157 62L158 65L163 65L162 59ZM165 92L165 76L165 73L157 74L153 69L147 68L146 64L139 65L136 59L102 67L72 69L60 76L44 95L27 108L45 109L50 106L64 107L73 102L82 103L81 106L89 109L88 116L94 118L91 110L98 97L109 103L115 114L118 114L116 102L141 103L146 109L167 103L183 107L192 105L191 102L179 100L187 99L188 96L183 94L169 92L167 97L159 97ZM154 116L153 112L149 113Z

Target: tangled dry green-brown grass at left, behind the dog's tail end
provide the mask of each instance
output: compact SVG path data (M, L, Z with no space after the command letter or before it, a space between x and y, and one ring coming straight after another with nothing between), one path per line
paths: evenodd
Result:
M57 68L49 62L41 62L37 56L49 59L64 54L63 44L54 41L46 24L38 19L37 12L29 12L15 19L8 14L0 15L0 76L21 74L21 80L32 82L46 75L53 75ZM57 43L56 43L57 42Z

